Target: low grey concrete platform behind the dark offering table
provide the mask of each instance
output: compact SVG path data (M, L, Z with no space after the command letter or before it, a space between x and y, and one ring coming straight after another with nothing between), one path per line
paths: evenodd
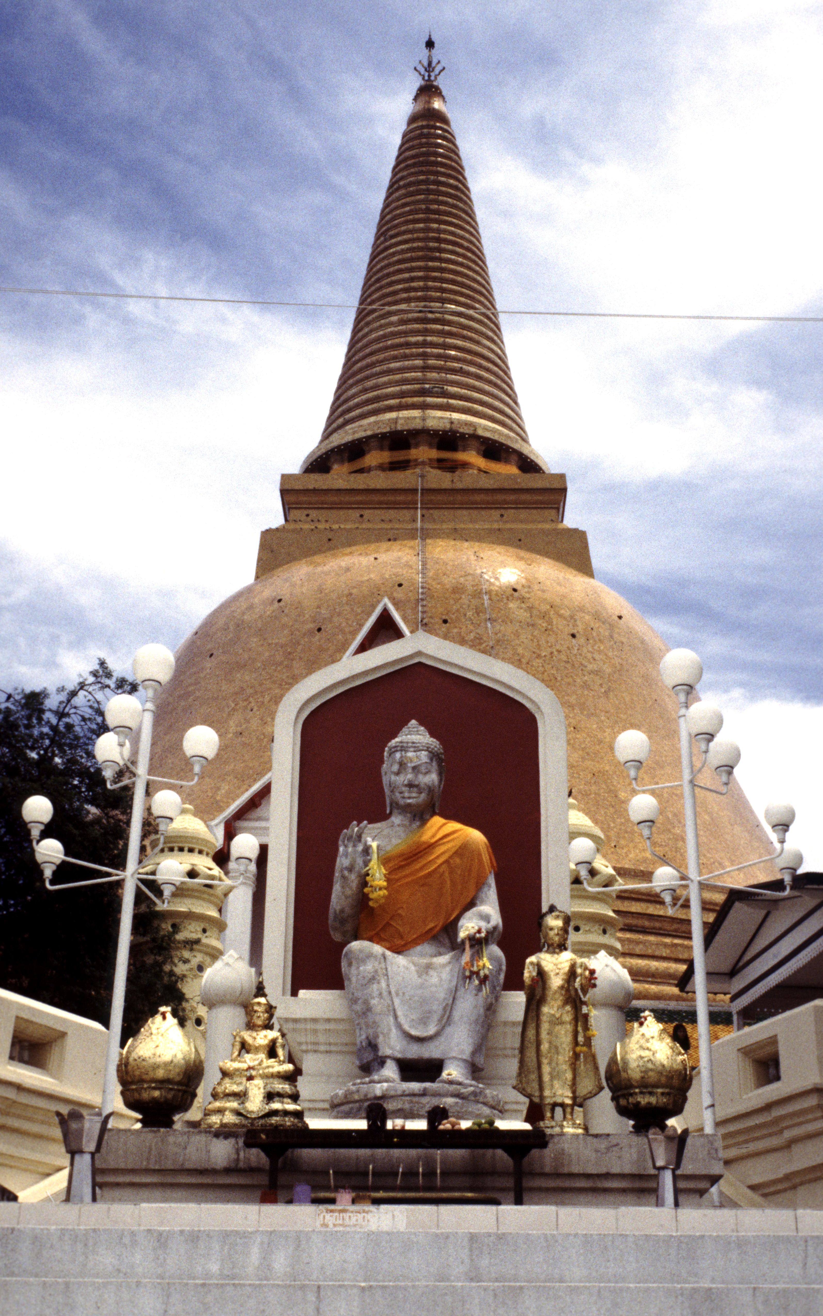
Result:
M436 1152L290 1152L280 1162L282 1199L295 1183L312 1188L373 1188L437 1184ZM216 1138L203 1129L115 1129L97 1157L103 1202L259 1202L267 1184L261 1152L242 1145L242 1134ZM720 1140L693 1134L678 1174L682 1207L697 1207L723 1175ZM440 1187L449 1192L489 1192L512 1202L511 1162L502 1152L448 1152L440 1155ZM554 1136L545 1152L523 1162L524 1200L531 1205L653 1207L657 1174L645 1137L625 1134Z

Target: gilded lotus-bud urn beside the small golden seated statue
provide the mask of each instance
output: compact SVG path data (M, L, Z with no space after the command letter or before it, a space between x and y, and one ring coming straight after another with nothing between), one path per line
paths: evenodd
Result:
M120 1053L117 1078L124 1105L144 1129L170 1129L188 1111L203 1078L203 1061L169 1005L161 1005Z

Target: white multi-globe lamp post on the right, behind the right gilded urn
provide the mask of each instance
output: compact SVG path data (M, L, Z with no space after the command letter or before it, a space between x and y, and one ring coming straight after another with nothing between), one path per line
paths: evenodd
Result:
M701 857L698 845L697 825L697 797L695 791L708 791L710 795L727 795L732 774L740 762L740 747L732 740L719 740L723 729L723 713L712 704L694 703L689 707L689 699L695 692L703 675L703 665L690 649L673 649L665 655L660 665L660 675L664 684L677 699L677 717L679 725L681 750L681 780L660 782L654 786L637 786L640 770L650 753L650 744L643 732L628 730L618 736L615 741L615 755L629 775L633 797L628 804L628 816L635 822L645 841L649 854L660 861L660 867L652 875L652 887L664 900L669 913L677 913L683 900L689 898L691 913L691 944L694 954L694 995L698 1023L698 1051L701 1061L701 1087L703 1098L703 1132L715 1132L715 1099L714 1075L711 1066L711 1036L708 1023L708 986L706 980L706 945L703 937L703 901L702 886L710 884L723 890L732 890L728 883L719 882L731 873L740 873L743 869L755 867L758 863L773 859L777 862L783 879L785 894L791 891L791 883L797 870L803 862L803 855L795 846L786 845L786 833L794 822L794 809L791 804L768 804L764 811L766 824L772 828L777 838L777 851L762 855L760 859L751 859L748 863L736 863L731 869L722 869L718 873L701 875ZM694 766L694 745L699 753L699 763ZM697 778L704 769L714 769L720 786L706 786ZM668 791L679 787L683 796L683 820L686 832L686 867L681 869L676 863L657 854L652 849L652 830L660 816L660 804L650 791ZM569 846L569 858L577 867L583 886L589 870L597 858L597 846L586 837L579 837ZM682 895L676 903L678 891ZM648 891L648 883L627 886L625 891ZM773 892L769 892L773 899Z

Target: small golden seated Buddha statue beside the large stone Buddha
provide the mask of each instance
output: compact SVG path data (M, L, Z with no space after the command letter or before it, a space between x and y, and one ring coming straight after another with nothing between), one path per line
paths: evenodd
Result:
M246 1005L246 1028L234 1033L232 1057L220 1061L223 1078L212 1088L200 1126L204 1129L271 1128L304 1124L294 1080L295 1067L286 1059L286 1040L271 1028L274 1005L262 979Z

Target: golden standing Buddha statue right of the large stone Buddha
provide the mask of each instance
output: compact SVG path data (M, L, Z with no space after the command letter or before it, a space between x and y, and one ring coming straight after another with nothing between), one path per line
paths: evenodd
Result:
M523 973L525 1013L514 1084L543 1107L539 1126L556 1133L585 1133L574 1108L603 1091L593 1029L583 1019L595 971L569 950L570 923L554 905L540 916L543 949L527 959ZM561 1124L554 1123L557 1107L562 1107Z

